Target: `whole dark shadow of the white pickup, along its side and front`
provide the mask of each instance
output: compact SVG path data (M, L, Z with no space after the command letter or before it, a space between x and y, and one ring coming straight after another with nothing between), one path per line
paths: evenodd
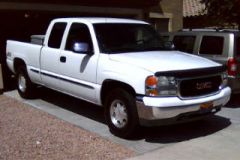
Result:
M41 88L39 98L65 110L74 112L94 121L105 123L104 109L71 96ZM145 140L149 143L174 143L214 134L231 125L230 119L221 116L160 127L141 127L130 141ZM108 133L110 134L110 133Z

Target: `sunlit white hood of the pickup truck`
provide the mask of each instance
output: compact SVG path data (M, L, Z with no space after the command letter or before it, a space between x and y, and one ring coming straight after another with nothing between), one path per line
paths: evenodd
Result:
M141 67L153 73L220 66L220 64L206 58L179 51L110 54L109 59Z

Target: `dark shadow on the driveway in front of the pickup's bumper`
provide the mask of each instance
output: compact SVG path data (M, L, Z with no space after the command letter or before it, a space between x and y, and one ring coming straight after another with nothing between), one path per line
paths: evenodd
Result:
M143 128L139 137L150 143L174 143L212 135L231 125L229 119L211 116L206 119L161 127Z

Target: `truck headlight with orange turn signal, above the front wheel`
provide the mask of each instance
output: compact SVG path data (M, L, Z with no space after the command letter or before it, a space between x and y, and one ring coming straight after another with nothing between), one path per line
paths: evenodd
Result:
M177 81L175 77L149 76L146 79L146 95L149 96L176 96Z

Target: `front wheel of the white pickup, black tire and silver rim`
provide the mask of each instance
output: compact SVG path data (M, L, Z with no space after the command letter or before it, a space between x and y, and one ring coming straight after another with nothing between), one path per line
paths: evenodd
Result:
M105 119L112 134L132 138L139 126L133 95L120 88L111 91L106 98Z

